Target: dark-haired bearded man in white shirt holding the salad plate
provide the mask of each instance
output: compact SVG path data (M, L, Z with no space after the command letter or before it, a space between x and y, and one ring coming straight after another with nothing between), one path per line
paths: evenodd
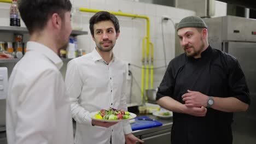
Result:
M118 19L107 11L100 11L91 17L90 31L96 48L68 63L65 80L72 117L77 122L75 143L143 142L131 134L131 125L127 121L100 122L90 117L91 112L109 107L127 110L126 66L113 54L120 33Z

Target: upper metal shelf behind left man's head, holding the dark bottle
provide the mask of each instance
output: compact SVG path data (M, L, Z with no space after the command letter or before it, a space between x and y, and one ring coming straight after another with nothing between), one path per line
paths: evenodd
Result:
M5 33L19 33L19 34L28 34L27 28L26 27L13 27L13 26L0 26L0 32L5 32ZM71 32L71 35L85 35L88 34L86 31L77 31L73 30Z

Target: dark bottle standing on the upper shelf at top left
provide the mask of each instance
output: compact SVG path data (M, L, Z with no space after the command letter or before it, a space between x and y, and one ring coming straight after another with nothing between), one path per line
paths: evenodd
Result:
M10 26L20 27L20 14L17 0L13 0L10 7Z

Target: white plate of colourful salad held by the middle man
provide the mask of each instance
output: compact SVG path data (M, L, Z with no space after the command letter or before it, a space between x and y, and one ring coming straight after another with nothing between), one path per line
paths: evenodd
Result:
M103 113L104 112L104 113ZM127 112L123 110L115 110L110 108L109 110L101 110L96 112L91 112L91 119L101 122L123 122L130 121L137 115L132 112Z

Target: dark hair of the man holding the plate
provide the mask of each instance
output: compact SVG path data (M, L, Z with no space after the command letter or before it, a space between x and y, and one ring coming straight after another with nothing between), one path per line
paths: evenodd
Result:
M94 36L94 24L100 21L112 21L115 26L115 32L120 32L119 22L115 15L108 13L107 11L99 11L93 15L90 19L90 31Z

